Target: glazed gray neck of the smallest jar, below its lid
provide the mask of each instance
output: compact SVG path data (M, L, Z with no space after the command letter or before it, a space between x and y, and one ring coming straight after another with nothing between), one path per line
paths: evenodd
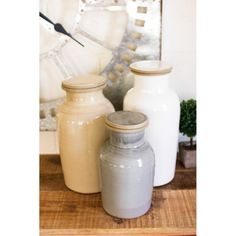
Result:
M135 133L118 133L110 131L110 144L119 148L137 148L143 145L144 130Z

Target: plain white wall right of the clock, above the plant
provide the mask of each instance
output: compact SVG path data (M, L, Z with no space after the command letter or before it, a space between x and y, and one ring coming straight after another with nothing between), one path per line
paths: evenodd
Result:
M173 65L170 85L181 99L196 97L196 1L163 0L162 60Z

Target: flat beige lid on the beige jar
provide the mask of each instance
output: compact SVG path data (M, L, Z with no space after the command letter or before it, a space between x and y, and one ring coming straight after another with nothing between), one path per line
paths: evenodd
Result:
M71 92L96 90L105 85L105 78L99 75L83 75L62 81L62 88Z

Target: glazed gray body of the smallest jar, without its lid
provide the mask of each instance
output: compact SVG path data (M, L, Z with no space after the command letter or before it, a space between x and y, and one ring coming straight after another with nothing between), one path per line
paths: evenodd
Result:
M113 137L103 145L100 155L103 208L115 217L135 218L151 205L154 152L145 141L134 144L129 142L129 134L111 133ZM121 145L113 145L114 139Z

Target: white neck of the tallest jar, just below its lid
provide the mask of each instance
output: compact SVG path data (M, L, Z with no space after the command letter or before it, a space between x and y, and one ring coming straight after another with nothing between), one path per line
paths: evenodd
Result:
M134 87L146 93L162 93L169 89L169 74L135 75Z

